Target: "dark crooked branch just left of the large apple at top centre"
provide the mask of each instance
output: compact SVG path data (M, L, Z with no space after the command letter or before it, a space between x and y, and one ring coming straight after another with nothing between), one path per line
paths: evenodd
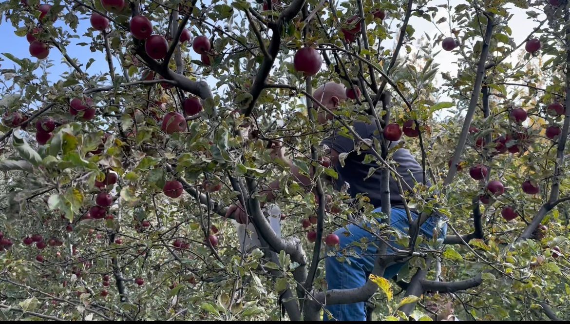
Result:
M269 26L273 30L273 35L271 37L271 42L269 43L269 48L267 51L269 56L264 56L263 62L261 63L257 75L255 76L254 83L251 86L250 90L250 94L252 96L251 102L246 108L242 110L244 115L251 115L251 112L255 107L255 103L259 98L259 95L261 95L261 92L265 88L265 80L267 79L269 72L271 72L275 58L279 53L283 25L291 21L291 19L293 19L299 13L299 11L301 11L304 3L305 0L293 0L291 2L291 5L287 6L287 8L283 10L283 13L279 16L278 21L270 23Z

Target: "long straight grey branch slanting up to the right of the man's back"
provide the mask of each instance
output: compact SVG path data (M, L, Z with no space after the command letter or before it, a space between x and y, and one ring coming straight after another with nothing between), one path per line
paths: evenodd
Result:
M483 38L483 48L481 50L481 58L479 58L479 64L477 66L475 85L473 87L473 93L471 93L471 101L469 102L467 113L465 114L465 121L463 122L463 128L461 129L459 141L455 147L453 159L451 159L451 168L449 169L449 172L443 181L443 192L446 191L445 187L451 184L451 181L455 177L455 173L457 173L457 168L454 166L459 163L459 159L461 158L461 153L463 152L463 147L465 146L467 135L469 134L469 125L471 125L471 120L473 120L473 115L475 114L475 108L477 108L479 94L481 94L481 84L483 83L483 76L485 73L485 62L487 61L489 48L491 46L491 37L494 27L493 17L494 16L492 14L488 15L487 17L487 29L485 30L485 35Z

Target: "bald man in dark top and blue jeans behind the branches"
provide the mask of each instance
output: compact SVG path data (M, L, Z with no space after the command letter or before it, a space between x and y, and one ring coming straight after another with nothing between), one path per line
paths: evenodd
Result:
M323 86L317 88L313 94L316 100L319 100L323 106L327 107L329 110L336 110L341 106L341 104L347 99L345 95L345 87L342 84L329 82ZM326 111L319 108L315 103L315 109L318 112L319 123L327 123L328 120L333 119L333 116L327 114ZM381 139L381 135L378 134L376 125L372 122L363 123L361 121L352 124L355 131L363 139L372 139L376 137ZM331 165L335 167L339 178L336 181L336 189L340 189L345 183L348 184L348 193L355 197L358 194L364 194L370 199L370 204L372 204L376 209L374 212L380 212L381 202L380 202L380 170L374 172L370 177L368 177L368 172L371 167L377 168L376 163L364 163L364 158L367 155L366 152L361 152L357 154L354 152L355 145L358 143L356 139L349 139L345 136L337 135L334 132L330 137L323 140L321 145L328 148L327 156L331 159ZM393 147L396 143L391 143L390 147ZM339 156L343 153L347 153L344 159L344 167L341 166L339 162ZM368 153L371 154L371 151ZM272 150L272 156L275 158L283 160L290 168L292 174L299 180L299 182L305 186L311 184L311 180L306 176L299 173L299 169L292 164L292 161L288 159L283 152L282 147L276 146ZM410 154L407 149L397 149L393 153L392 159L398 164L396 171L403 177L402 187L409 189L414 188L415 182L424 183L422 176L422 168L417 163L416 159ZM413 177L409 174L410 171ZM429 183L426 183L429 185ZM267 200L270 201L274 199L272 191L279 188L279 183L276 181L270 185L270 188L263 191L267 195ZM400 196L400 189L398 183L395 179L390 179L390 203L392 209L390 210L390 223L393 229L398 229L402 233L407 233L409 228L408 216L403 208L402 197ZM243 209L238 206L231 206L227 212L227 215L234 213L236 218L242 221L247 220L247 216ZM412 217L415 220L418 215L412 213ZM437 219L435 217L430 217L421 226L421 232L428 237L433 235L434 229L437 226ZM347 229L349 235L345 235L346 229L342 228L337 230L335 233L340 238L339 256L346 256L344 262L337 260L336 257L328 257L325 260L325 276L327 278L328 289L351 289L360 287L365 284L368 274L372 272L374 264L374 254L377 254L377 246L374 244L376 241L376 236L370 233L364 228L370 228L370 224L363 224L368 226L357 226L348 225ZM442 230L442 237L445 236L446 228ZM353 242L369 242L367 250L363 251L357 246L353 246ZM401 248L400 246L395 246L391 244L393 248ZM351 249L351 253L347 254L347 248ZM354 253L352 253L354 252ZM388 248L388 253L394 253L393 249ZM356 254L357 256L353 256ZM352 256L348 256L352 255ZM384 273L385 278L392 278L396 276L398 271L404 266L404 264L396 264L390 266L386 269ZM353 303L350 305L331 305L327 306L327 310L331 312L332 319L337 321L366 321L366 311L365 303ZM328 320L328 315L325 312L324 320Z

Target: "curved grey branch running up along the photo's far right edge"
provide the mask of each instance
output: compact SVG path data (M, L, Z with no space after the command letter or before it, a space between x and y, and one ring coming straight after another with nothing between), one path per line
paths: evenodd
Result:
M570 13L568 11L568 6L570 6L570 3L567 3L567 7L564 13L564 21L566 43L570 44L570 26L568 25L568 22L570 21ZM535 217L532 218L531 224L528 224L523 233L516 240L517 242L526 238L530 238L532 236L532 233L536 230L536 228L538 228L544 216L546 216L546 214L553 208L553 204L558 200L558 195L560 193L560 176L564 162L564 149L566 147L566 141L568 140L568 127L570 126L570 95L568 95L570 94L570 50L568 50L568 48L566 48L566 87L564 93L567 94L564 100L564 125L562 127L562 133L560 134L560 137L558 137L558 147L556 149L556 165L554 167L554 177L552 180L550 197L548 198L547 203L540 207L538 213L536 213Z

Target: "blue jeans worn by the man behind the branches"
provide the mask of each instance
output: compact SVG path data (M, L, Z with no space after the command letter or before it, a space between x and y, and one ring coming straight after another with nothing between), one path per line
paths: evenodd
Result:
M375 209L374 212L380 212L380 208ZM418 215L412 212L412 219L416 220L417 217ZM378 221L381 221L380 218L377 219ZM427 238L431 238L433 236L435 226L437 226L437 222L437 216L427 218L421 226L421 234L424 234ZM390 213L390 226L404 234L408 234L410 224L405 209L392 208ZM337 260L336 257L327 257L325 260L325 276L329 290L351 289L363 286L367 281L369 274L372 272L374 261L377 257L375 254L377 254L378 246L373 244L374 241L377 242L377 238L368 230L363 229L370 229L370 223L361 224L362 228L353 224L348 225L347 227L351 233L350 236L346 236L344 234L347 232L344 228L338 229L335 232L335 234L340 238L340 248L337 256L345 257L347 260L341 262ZM445 238L446 233L447 224L444 224L439 238ZM390 246L403 249L401 246L394 244L393 239L394 238L390 239ZM364 252L359 246L352 245L352 242L363 242L364 240L369 242L367 249ZM390 249L390 246L388 247L387 253L394 254L395 251ZM349 250L352 250L351 252L353 252L348 253L348 256L346 256L347 251L344 250L347 247ZM342 252L343 250L344 253ZM350 256L351 254L357 254L360 257ZM383 277L388 280L393 278L398 274L398 272L400 272L400 269L402 269L406 263L407 262L402 262L389 266L386 268ZM333 318L328 319L328 315L325 312L323 314L323 321L366 321L365 302L346 305L330 305L326 306L326 309L331 312Z

